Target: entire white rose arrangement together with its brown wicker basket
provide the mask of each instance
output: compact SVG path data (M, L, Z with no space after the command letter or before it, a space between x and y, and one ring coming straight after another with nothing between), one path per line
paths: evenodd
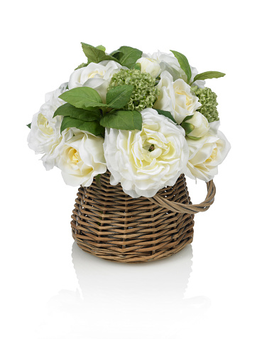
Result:
M72 235L114 261L151 261L192 242L193 217L214 202L212 181L230 145L219 131L217 95L176 51L144 54L82 43L87 63L45 95L28 146L46 170L80 186ZM207 182L192 205L185 175Z

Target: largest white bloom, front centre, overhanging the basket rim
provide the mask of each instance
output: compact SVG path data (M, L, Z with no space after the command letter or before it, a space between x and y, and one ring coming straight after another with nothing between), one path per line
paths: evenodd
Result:
M182 127L152 108L141 114L141 131L106 128L104 140L111 184L121 182L124 192L133 198L153 197L159 189L175 184L188 160Z

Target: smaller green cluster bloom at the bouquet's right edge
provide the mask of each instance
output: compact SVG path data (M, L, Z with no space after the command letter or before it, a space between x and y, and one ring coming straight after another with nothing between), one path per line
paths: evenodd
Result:
M199 108L199 112L204 115L209 122L219 120L219 113L217 111L217 94L212 92L210 88L197 88L197 86L191 88L192 92L199 98L199 103L202 107Z

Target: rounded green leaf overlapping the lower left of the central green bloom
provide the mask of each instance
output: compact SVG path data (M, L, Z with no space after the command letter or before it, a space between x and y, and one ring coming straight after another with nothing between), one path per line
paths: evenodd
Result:
M106 94L106 104L111 108L124 108L131 98L132 85L119 85L111 88Z

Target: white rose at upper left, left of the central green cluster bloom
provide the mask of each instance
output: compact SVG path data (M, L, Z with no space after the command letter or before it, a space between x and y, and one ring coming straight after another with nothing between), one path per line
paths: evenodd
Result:
M100 63L89 63L88 66L79 68L70 75L69 89L82 86L94 88L105 103L111 78L121 68L128 69L116 61L104 60Z

